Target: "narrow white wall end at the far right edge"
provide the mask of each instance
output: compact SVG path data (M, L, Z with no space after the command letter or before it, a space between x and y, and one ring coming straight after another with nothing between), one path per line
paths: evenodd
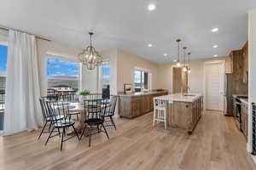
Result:
M248 113L248 143L247 150L252 151L252 106L256 103L256 9L248 14L248 96L249 96L249 113Z

